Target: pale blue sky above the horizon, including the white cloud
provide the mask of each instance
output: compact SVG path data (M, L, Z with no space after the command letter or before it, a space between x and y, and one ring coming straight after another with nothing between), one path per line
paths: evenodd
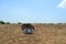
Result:
M66 0L0 0L0 21L66 23Z

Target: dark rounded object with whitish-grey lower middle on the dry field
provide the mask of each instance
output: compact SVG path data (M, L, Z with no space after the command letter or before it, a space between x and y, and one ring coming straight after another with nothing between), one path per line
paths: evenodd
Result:
M34 32L34 26L30 23L22 24L22 30L25 34L32 34Z

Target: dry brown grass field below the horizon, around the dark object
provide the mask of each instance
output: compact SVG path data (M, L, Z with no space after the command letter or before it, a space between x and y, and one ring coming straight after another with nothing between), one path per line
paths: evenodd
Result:
M24 34L20 24L0 24L0 44L66 44L66 24L33 24Z

